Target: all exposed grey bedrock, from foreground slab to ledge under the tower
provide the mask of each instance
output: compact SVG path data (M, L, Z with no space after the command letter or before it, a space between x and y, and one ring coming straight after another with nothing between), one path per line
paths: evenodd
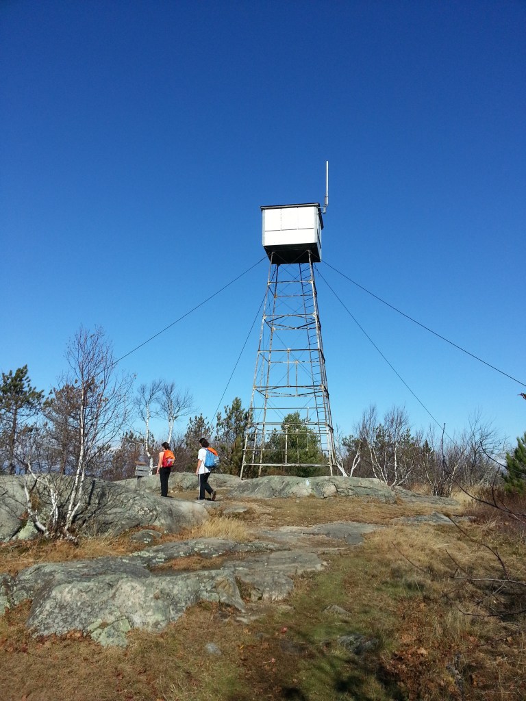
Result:
M25 515L23 478L0 478L0 528L4 539L20 533ZM263 477L241 482L230 475L214 475L222 498L299 498L347 496L384 503L398 499L441 505L454 500L419 496L390 489L377 480L351 477ZM195 475L172 475L171 489L195 489ZM67 478L64 486L67 489ZM79 510L81 524L102 532L122 533L142 527L131 540L151 544L159 531L177 533L208 519L219 502L164 499L156 477L120 483L90 482ZM227 512L227 505L224 505ZM233 504L232 507L236 507ZM237 504L237 508L240 505ZM235 509L234 509L235 510ZM405 522L451 524L439 512ZM147 526L156 526L152 531ZM18 527L18 531L17 531ZM158 631L177 620L198 601L217 601L241 616L250 602L279 601L294 587L293 577L323 569L323 554L363 542L365 533L386 526L353 522L284 526L252 531L250 543L219 538L179 540L146 547L122 557L100 557L64 563L39 563L16 576L0 574L0 610L32 602L27 626L37 635L80 630L102 645L125 646L133 628ZM201 558L201 568L185 569L184 559ZM171 566L175 564L177 566ZM242 618L240 620L243 620Z

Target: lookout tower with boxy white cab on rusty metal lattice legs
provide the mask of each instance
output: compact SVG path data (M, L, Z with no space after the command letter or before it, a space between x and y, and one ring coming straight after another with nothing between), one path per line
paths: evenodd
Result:
M241 477L332 475L342 468L313 268L321 261L322 210L308 203L261 211L270 267Z

